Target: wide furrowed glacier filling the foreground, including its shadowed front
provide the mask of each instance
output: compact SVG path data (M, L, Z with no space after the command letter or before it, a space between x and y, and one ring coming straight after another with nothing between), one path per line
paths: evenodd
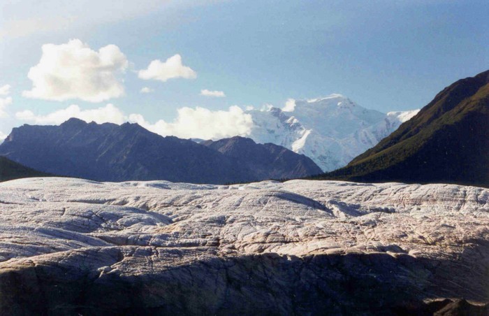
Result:
M0 312L483 315L488 227L459 185L14 180Z

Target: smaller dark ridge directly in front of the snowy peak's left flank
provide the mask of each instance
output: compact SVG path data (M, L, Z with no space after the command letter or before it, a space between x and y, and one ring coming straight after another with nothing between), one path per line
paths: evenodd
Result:
M253 170L256 179L291 179L308 173L318 175L321 168L309 157L272 143L257 144L250 138L235 136L200 144L221 152L240 166Z

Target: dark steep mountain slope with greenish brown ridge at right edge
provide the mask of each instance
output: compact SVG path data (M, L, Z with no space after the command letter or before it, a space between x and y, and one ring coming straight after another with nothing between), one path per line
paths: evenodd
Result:
M489 71L454 82L374 148L325 178L489 186Z

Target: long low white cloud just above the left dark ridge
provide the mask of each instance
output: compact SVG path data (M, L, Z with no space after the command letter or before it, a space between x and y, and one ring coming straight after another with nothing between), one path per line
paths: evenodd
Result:
M124 113L112 104L107 104L101 108L82 110L75 104L61 110L56 110L48 115L35 115L31 110L24 110L15 113L17 120L29 121L34 124L49 125L61 124L71 117L77 117L85 122L96 122L98 124L110 122L122 124L126 121Z

